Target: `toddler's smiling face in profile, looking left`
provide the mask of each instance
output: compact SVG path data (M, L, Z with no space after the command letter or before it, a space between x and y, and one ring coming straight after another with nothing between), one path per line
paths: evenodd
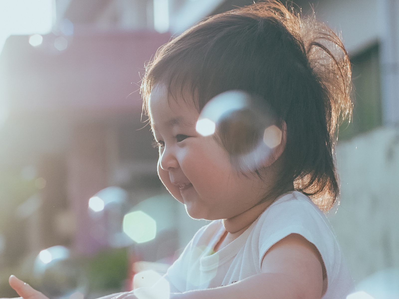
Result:
M149 114L159 147L158 175L196 219L227 219L256 205L264 194L257 175L232 169L227 151L196 132L199 113L187 94L170 98L163 85L150 94Z

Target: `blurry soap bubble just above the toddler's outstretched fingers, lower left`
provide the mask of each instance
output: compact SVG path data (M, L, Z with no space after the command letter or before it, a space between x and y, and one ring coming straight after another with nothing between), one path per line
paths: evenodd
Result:
M42 250L35 259L33 274L35 284L49 298L66 299L85 293L83 271L64 246Z

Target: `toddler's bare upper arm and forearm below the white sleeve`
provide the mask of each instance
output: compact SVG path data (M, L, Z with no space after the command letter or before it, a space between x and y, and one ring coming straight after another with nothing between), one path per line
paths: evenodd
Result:
M313 244L291 234L267 252L261 274L223 287L173 294L171 299L320 299L322 263Z

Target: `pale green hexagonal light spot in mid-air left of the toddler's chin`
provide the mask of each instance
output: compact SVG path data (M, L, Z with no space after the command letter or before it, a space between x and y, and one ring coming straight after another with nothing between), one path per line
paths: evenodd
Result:
M156 221L143 211L134 211L123 217L123 231L134 242L144 243L156 236Z

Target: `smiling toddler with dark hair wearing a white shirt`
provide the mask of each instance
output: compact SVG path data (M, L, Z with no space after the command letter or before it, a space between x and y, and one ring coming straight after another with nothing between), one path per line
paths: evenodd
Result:
M158 50L141 86L158 175L192 218L213 220L169 268L170 298L345 299L352 292L323 213L338 201L334 146L352 110L350 75L332 30L275 1L207 18ZM218 128L210 136L196 131L205 104L228 90L263 99L281 132L256 169L234 167ZM10 284L24 299L45 299L14 276ZM136 298L105 298L112 297Z

